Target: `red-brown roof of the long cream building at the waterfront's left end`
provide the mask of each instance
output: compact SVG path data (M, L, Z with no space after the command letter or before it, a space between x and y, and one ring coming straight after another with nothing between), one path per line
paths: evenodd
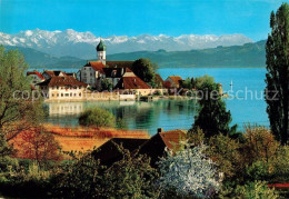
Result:
M41 83L38 83L39 86L49 86L49 87L53 87L53 86L82 86L82 87L87 87L87 83L83 83L81 81L78 81L77 79L74 79L71 76L66 76L66 77L52 77Z

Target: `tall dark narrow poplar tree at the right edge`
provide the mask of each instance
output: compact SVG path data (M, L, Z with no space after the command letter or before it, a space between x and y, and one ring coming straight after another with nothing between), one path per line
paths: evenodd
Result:
M288 131L289 86L289 4L271 12L271 33L266 43L266 101L270 127L276 139L286 145Z

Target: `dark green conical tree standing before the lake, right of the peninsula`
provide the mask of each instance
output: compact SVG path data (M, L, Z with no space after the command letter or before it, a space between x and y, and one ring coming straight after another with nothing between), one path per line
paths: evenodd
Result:
M199 112L195 117L195 123L191 130L200 128L206 137L211 137L218 133L231 135L237 126L230 128L231 113L226 110L226 103L219 94L217 83L206 81L199 88L201 99L199 101Z

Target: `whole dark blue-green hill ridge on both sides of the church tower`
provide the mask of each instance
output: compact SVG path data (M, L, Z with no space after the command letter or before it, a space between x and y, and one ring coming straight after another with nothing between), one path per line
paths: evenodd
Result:
M200 67L265 67L266 41L246 43L243 46L217 47L203 50L190 51L138 51L128 53L109 54L107 60L137 60L149 58L158 63L160 68L200 68ZM56 58L30 48L7 47L8 49L18 48L31 68L71 68L79 69L86 64L87 60L74 57ZM90 59L90 60L96 60Z

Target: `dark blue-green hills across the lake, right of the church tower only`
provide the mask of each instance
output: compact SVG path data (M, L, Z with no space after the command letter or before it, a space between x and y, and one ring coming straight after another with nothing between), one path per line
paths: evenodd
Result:
M149 58L160 68L199 68L199 67L265 67L266 40L243 46L217 47L190 51L139 51L108 56L108 60L136 60Z

